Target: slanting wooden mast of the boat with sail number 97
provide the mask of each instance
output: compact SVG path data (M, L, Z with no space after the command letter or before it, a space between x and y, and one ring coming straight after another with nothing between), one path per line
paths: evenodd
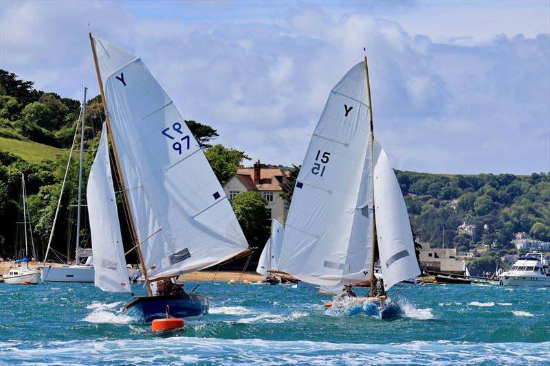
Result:
M113 155L115 157L116 170L118 174L118 180L122 186L122 194L124 195L124 205L126 205L126 211L129 213L130 227L132 229L132 238L135 242L135 249L137 250L137 256L140 258L140 265L142 267L142 272L145 277L145 287L147 288L147 294L153 296L153 291L151 291L151 286L149 286L149 279L147 275L147 268L143 262L142 249L140 248L140 243L138 243L137 231L135 230L135 224L133 222L133 215L130 209L128 197L126 196L126 187L124 185L124 179L122 179L122 169L118 161L118 154L116 152L115 139L113 138L113 130L111 129L111 119L109 119L109 113L107 112L107 102L105 101L105 95L103 93L103 82L101 80L101 75L99 72L98 57L96 56L96 45L94 45L94 38L92 38L91 33L89 33L90 45L91 45L91 54L94 56L94 65L96 66L96 73L98 75L98 84L99 91L101 93L101 102L103 104L103 110L105 111L105 120L107 121L107 130L109 131L109 137L111 137L111 145L113 146Z

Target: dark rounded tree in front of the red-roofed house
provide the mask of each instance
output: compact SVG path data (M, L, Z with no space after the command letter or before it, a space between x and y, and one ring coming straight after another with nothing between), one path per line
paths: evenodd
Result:
M231 206L250 247L261 247L270 237L270 214L267 201L259 192L242 192L234 196Z

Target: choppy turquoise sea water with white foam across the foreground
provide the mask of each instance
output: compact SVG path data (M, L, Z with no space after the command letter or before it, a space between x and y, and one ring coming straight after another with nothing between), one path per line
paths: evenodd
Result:
M327 310L330 297L309 286L208 282L196 293L214 298L210 313L159 335L120 314L129 295L0 284L0 364L550 363L550 288L394 287L403 312L383 321Z

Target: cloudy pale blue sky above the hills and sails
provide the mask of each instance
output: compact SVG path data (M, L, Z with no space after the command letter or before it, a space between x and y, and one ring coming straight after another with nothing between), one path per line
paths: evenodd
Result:
M550 171L547 0L0 0L0 67L95 95L89 29L140 55L186 119L265 163L301 163L366 46L375 136L395 168Z

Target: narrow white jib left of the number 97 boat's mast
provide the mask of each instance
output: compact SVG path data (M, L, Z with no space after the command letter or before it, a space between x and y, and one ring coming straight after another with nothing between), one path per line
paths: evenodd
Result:
M130 285L113 190L105 124L101 131L96 159L91 165L86 198L91 247L94 251L94 282L103 291L129 293Z

